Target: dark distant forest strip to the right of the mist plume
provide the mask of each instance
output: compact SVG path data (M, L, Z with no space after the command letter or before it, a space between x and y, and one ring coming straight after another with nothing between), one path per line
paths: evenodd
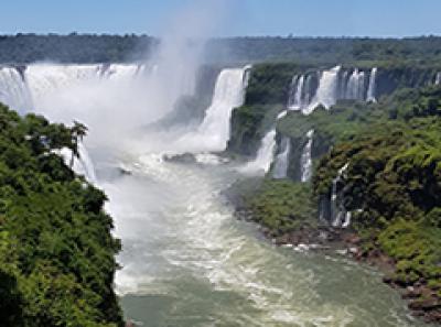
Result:
M300 62L311 65L355 62L441 64L441 37L234 37L208 44L213 59L229 57L247 62Z

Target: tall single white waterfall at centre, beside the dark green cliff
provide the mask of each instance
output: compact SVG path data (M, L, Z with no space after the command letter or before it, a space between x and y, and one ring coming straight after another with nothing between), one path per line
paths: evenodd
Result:
M230 116L243 105L249 67L223 69L217 77L212 105L197 129L198 142L211 151L223 151L229 139Z

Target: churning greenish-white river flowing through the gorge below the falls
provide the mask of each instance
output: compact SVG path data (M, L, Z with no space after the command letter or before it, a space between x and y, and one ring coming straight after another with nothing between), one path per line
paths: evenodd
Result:
M276 248L237 221L222 195L237 170L200 161L144 155L131 175L104 185L123 242L117 286L128 318L141 326L420 326L374 270Z

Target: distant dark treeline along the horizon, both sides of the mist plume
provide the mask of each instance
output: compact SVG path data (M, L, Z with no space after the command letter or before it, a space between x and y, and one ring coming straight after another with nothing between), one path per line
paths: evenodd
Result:
M0 63L37 61L61 63L109 63L144 59L159 44L148 35L36 35L0 36ZM207 43L209 62L303 62L311 64L352 62L441 63L441 36L409 39L367 37L230 37Z

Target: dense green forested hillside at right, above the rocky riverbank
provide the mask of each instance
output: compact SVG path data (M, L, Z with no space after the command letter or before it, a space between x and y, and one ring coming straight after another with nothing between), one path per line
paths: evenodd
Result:
M420 287L415 303L424 301L422 309L434 317L441 307L440 100L440 88L427 88L368 106L357 118L364 117L358 131L345 121L341 128L348 126L349 135L334 130L338 141L314 175L315 195L329 196L337 170L349 164L343 197L364 250L391 257L392 281Z

